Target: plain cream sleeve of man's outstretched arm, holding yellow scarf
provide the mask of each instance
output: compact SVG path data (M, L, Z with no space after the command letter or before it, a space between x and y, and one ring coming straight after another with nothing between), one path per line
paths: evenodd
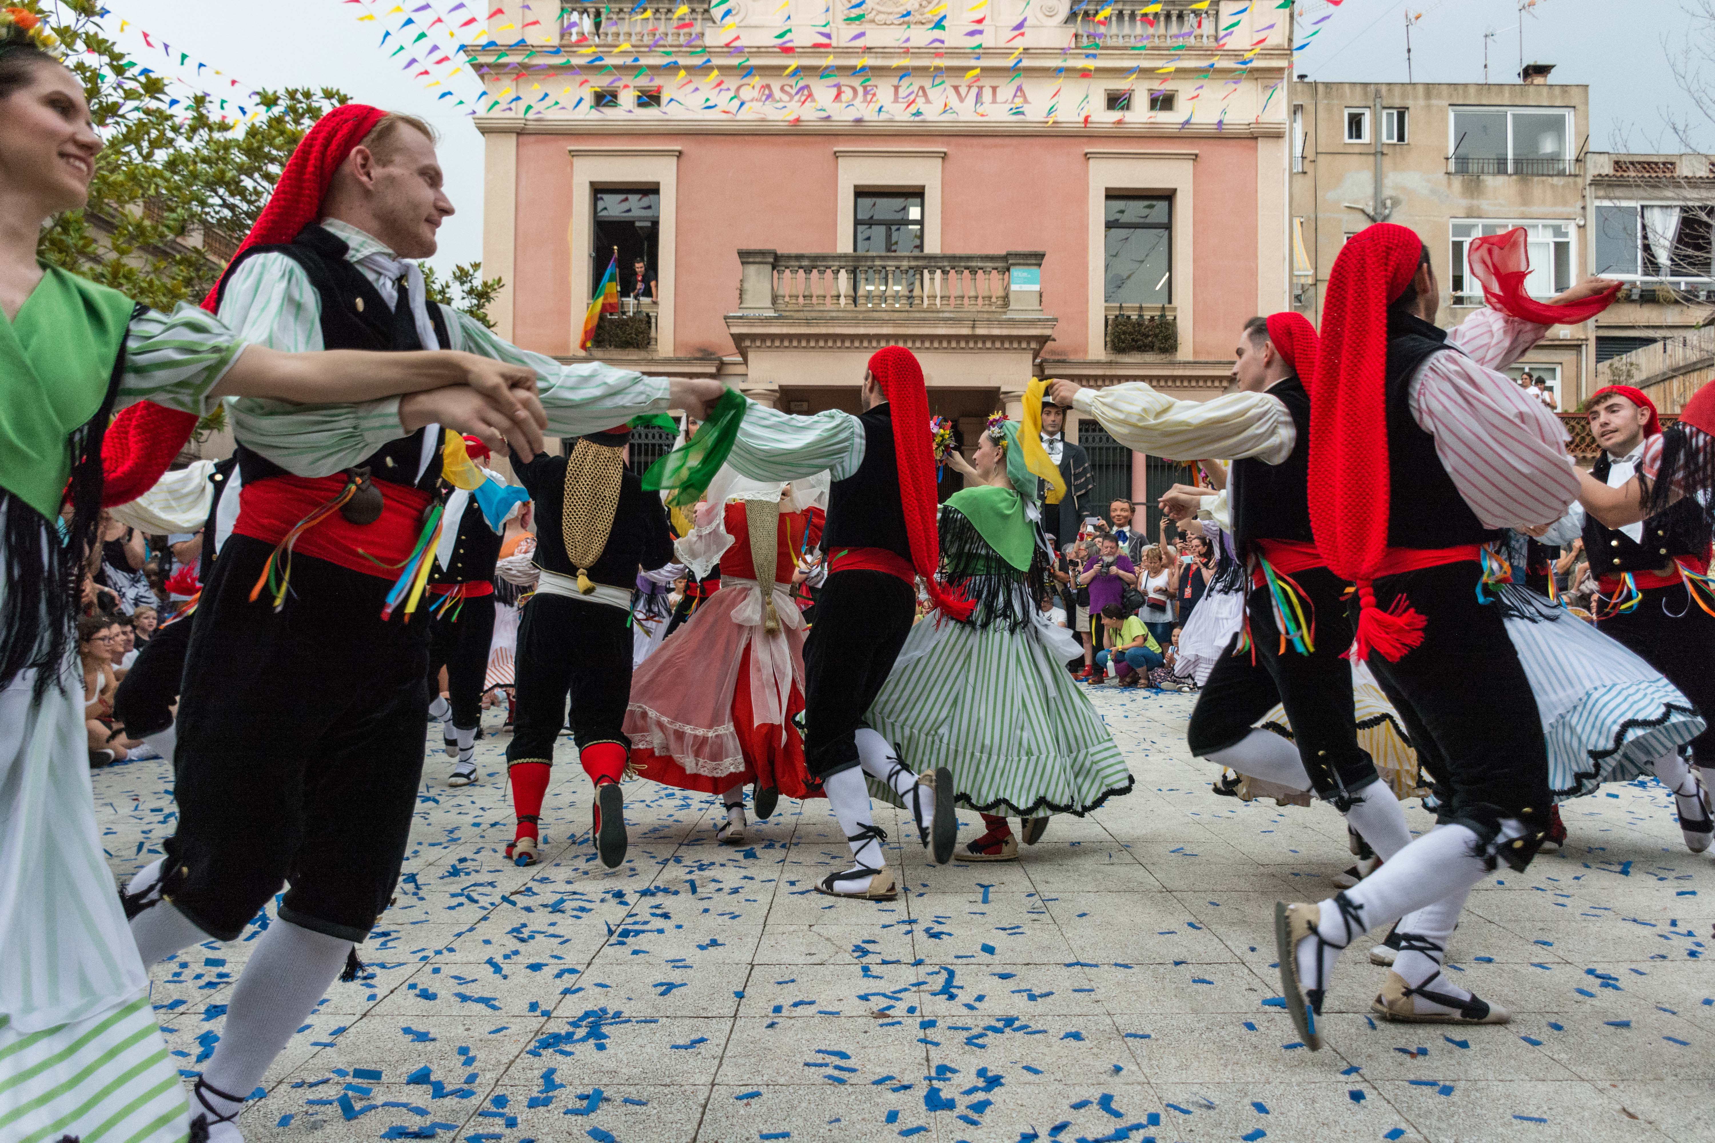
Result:
M1072 404L1094 416L1134 452L1173 461L1255 458L1264 464L1279 464L1298 440L1286 404L1266 392L1176 401L1134 380L1106 389L1079 389Z

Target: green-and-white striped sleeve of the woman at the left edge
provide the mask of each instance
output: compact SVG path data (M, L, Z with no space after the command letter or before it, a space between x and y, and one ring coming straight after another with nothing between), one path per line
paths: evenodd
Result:
M172 314L144 310L125 331L125 374L115 404L154 401L204 416L244 343L208 310L184 302Z

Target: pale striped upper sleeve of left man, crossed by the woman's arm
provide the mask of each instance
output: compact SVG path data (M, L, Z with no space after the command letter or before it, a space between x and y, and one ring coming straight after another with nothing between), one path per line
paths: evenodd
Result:
M221 293L221 319L244 341L281 353L322 350L321 298L304 267L283 254L238 264ZM405 435L400 399L297 404L228 398L233 437L297 476L331 476Z

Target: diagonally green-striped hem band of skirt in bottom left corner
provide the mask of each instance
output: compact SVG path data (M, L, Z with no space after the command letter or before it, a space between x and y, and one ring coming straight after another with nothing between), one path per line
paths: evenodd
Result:
M189 1119L147 996L31 1033L0 1016L0 1140L182 1143Z

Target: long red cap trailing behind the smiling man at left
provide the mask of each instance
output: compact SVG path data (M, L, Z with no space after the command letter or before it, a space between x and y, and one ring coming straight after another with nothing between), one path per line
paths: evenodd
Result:
M384 115L381 108L346 103L316 120L286 159L268 206L238 243L237 254L250 247L292 242L300 230L319 221L321 204L328 197L328 187L333 185L334 171ZM226 279L232 262L226 266L220 281L202 298L202 308L209 314L220 305L220 284ZM139 401L120 411L101 442L101 506L127 504L153 488L190 440L196 427L196 413L180 413L153 401Z

